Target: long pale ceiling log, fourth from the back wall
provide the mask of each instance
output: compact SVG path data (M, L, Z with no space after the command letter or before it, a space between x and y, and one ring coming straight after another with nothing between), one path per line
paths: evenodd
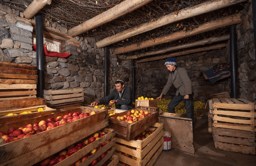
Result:
M184 20L186 18L194 17L200 14L204 14L207 12L211 12L220 8L224 8L230 5L234 5L237 3L241 3L246 0L211 0L206 1L202 4L193 6L193 7L187 7L185 9L182 9L178 12L176 15L174 12L167 14L163 17L155 19L155 21L150 21L141 25L138 25L134 28L130 28L128 30L125 30L123 32L120 32L118 34L112 35L110 37L107 37L101 41L96 42L96 45L98 48L102 48L104 46L113 44L117 41L121 41L130 37L133 37L135 35L153 30L155 28L174 23L180 20Z

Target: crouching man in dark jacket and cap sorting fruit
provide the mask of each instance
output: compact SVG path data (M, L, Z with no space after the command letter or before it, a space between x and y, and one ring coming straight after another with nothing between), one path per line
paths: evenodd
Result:
M134 105L132 104L131 89L127 86L124 86L124 80L116 80L115 86L116 89L114 89L107 97L102 98L97 102L92 102L91 107L109 103L111 106L115 104L116 109L133 109Z

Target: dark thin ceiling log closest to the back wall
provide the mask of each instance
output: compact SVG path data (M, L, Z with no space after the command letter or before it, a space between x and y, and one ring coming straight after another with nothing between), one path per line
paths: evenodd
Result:
M211 46L202 47L202 48L190 49L190 50L186 50L186 51L175 52L175 53L170 53L170 54L161 55L161 56L155 56L152 58L144 58L141 60L137 60L136 62L137 63L148 62L148 61L153 61L153 60L169 58L169 57L173 57L173 56L180 56L180 55L186 55L186 54L195 53L195 52L208 51L211 49L220 49L220 48L226 47L226 46L227 46L227 43L221 43L221 44L211 45Z

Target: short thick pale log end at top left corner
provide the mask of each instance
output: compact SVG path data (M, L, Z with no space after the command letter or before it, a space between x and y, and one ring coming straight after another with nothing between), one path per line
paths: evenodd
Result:
M51 4L52 0L34 0L31 4L27 7L27 9L23 12L24 17L26 19L31 19L34 15L37 14L43 7L47 4Z

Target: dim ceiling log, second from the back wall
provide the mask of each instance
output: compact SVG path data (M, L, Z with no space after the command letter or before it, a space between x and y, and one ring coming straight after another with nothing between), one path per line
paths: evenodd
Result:
M213 37L213 38L209 38L209 39L204 39L201 41L195 41L195 42L191 42L191 43L186 43L183 45L179 45L179 46L174 46L174 47L167 47L161 50L157 50L157 51L150 51L150 52L145 52L145 53L141 53L138 55L132 55L127 57L127 59L137 59L140 57L144 57L144 56L149 56L149 55L155 55L155 54L159 54L159 53L166 53L168 51L173 51L173 50L178 50L178 49L184 49L184 48L189 48L189 47L194 47L194 46L198 46L198 45L204 45L204 44L209 44L209 43L213 43L213 42L217 42L217 41L223 41L223 40L228 40L229 39L229 35L223 35L220 37Z

